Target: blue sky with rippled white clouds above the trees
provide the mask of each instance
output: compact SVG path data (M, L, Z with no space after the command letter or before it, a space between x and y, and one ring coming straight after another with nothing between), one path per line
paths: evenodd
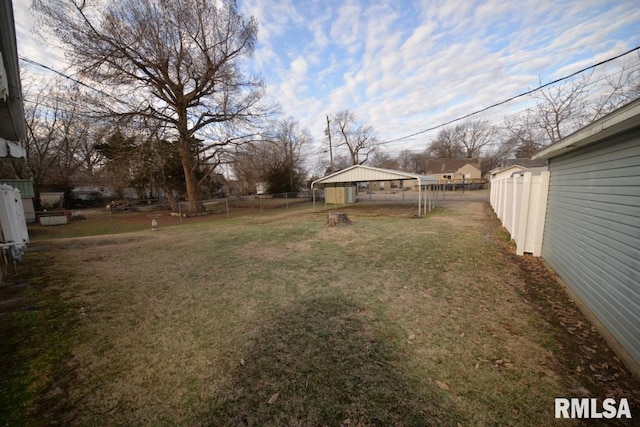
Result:
M64 70L30 0L13 0L21 57ZM437 130L404 138L640 45L637 0L238 0L259 25L247 64L269 100L327 156L326 116L352 110L383 150L422 151ZM637 52L596 68L640 68ZM500 125L522 98L473 119Z

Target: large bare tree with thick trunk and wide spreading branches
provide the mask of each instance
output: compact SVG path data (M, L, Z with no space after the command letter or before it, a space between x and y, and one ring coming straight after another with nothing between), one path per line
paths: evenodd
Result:
M197 170L261 113L262 81L243 72L257 23L219 0L34 0L71 66L120 118L151 120L177 141L190 211Z

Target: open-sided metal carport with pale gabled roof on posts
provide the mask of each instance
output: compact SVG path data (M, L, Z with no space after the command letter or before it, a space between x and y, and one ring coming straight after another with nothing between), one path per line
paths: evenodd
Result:
M313 194L313 210L316 211L315 188L322 186L352 187L359 182L375 181L409 181L415 180L418 183L418 217L427 213L427 208L435 206L436 197L433 197L433 187L439 184L437 178L415 173L397 171L391 169L373 168L370 166L354 165L341 171L332 173L311 183ZM355 201L355 200L354 200ZM325 198L325 210L327 200Z

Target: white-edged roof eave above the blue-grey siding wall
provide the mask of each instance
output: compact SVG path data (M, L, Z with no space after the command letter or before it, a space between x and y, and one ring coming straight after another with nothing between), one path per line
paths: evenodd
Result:
M607 114L582 129L562 138L544 150L534 154L533 159L552 159L579 148L595 144L614 135L640 128L640 98Z

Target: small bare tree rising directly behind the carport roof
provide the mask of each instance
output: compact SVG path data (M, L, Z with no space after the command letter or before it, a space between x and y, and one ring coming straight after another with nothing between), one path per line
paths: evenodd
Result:
M337 147L348 150L351 165L362 165L378 148L378 139L373 127L356 120L351 110L340 111L333 117L333 131Z

